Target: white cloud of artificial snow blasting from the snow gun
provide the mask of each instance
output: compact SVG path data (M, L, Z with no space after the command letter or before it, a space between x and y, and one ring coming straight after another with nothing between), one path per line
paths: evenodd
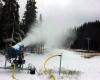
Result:
M45 43L47 48L61 48L66 37L73 36L66 25L43 21L31 27L26 38L21 42L24 46Z

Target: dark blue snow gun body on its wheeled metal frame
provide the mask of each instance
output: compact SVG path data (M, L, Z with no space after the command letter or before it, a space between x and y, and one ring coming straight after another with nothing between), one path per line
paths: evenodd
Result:
M5 56L5 66L0 67L0 69L13 69L15 68L19 70L28 70L30 74L35 74L36 68L32 66L31 64L28 65L27 68L23 68L23 64L25 64L24 60L24 52L23 47L20 47L20 50L16 50L13 47L8 47L4 51ZM9 62L11 65L7 66L7 62Z

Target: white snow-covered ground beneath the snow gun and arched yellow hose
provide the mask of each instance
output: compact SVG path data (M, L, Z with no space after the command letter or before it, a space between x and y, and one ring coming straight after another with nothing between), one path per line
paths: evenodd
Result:
M42 54L30 54L25 57L27 67L29 63L34 65L39 73L44 70L44 62L50 56L58 55L62 53L62 68L66 70L79 71L80 75L77 78L69 78L61 74L63 78L58 78L58 73L54 73L56 80L99 80L100 79L100 57L96 56L90 59L85 59L81 57L78 52L71 50L61 50L55 49L48 53ZM0 55L0 66L4 66L4 56ZM54 57L50 59L45 65L47 69L53 69L59 71L59 57ZM8 64L9 65L9 64ZM45 74L30 75L27 71L16 71L17 80L50 80ZM0 80L13 80L12 70L2 70L0 69Z

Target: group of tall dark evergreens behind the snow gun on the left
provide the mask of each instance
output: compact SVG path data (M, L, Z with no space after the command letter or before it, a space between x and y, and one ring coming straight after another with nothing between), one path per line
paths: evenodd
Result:
M0 0L0 49L21 41L36 22L36 2L27 0L26 11L20 21L17 0Z

